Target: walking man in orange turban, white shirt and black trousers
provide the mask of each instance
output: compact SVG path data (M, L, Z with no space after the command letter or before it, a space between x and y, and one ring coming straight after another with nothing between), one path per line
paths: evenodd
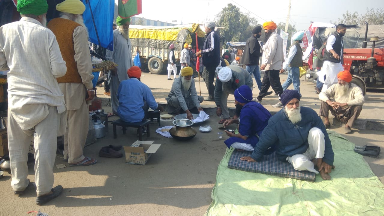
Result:
M262 65L260 70L265 71L259 95L254 100L261 102L263 97L269 95L268 89L272 86L273 91L279 96L279 102L273 107L282 107L280 96L283 94L283 87L280 83L280 70L283 68L284 51L283 39L276 33L276 23L265 22L263 24L265 38L263 46Z

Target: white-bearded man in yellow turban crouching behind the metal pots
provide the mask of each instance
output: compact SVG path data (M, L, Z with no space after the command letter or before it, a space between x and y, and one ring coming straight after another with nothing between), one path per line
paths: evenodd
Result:
M185 67L180 71L180 77L175 79L172 83L172 88L167 100L168 113L180 113L183 110L187 113L187 118L192 120L193 116L190 112L191 109L203 111L200 103L203 102L202 96L197 96L195 87L195 80L192 79L193 69Z

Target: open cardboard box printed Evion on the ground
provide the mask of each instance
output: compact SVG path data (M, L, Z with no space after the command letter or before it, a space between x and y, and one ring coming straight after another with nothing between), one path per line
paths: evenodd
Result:
M160 148L160 144L152 144L153 141L136 140L131 146L124 146L125 163L145 165L152 153Z

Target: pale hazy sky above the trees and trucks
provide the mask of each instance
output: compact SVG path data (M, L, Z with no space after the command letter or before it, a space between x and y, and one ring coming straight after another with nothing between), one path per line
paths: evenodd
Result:
M115 0L117 2L117 0ZM243 13L250 12L261 25L266 21L286 22L289 0L142 0L143 17L177 24L204 23L213 20L228 3ZM290 24L305 30L311 21L336 22L343 13L366 13L366 8L383 8L383 0L291 0Z

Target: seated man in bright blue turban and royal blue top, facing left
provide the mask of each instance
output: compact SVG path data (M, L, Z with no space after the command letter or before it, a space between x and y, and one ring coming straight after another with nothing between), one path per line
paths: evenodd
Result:
M271 114L263 105L252 101L252 89L249 86L240 86L235 90L234 95L236 110L240 110L240 116L226 120L224 126L237 123L238 133L225 130L230 138L224 143L228 148L232 146L236 149L253 151L264 128L268 125Z

